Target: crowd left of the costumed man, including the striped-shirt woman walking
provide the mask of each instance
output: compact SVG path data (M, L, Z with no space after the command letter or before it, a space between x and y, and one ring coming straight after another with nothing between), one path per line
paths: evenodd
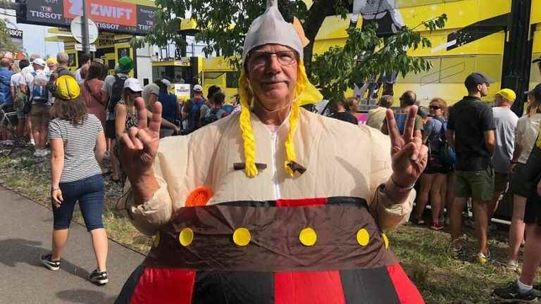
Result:
M116 143L139 124L136 99L142 96L147 110L157 101L162 104L160 137L194 132L229 115L234 106L225 104L218 86L210 87L205 99L203 88L196 84L193 98L185 102L178 100L166 78L143 88L130 76L133 61L128 56L119 59L113 75L108 75L100 58L81 56L75 73L68 62L64 52L46 60L32 54L16 64L13 58L0 58L0 107L8 119L0 126L0 140L16 137L34 146L36 158L50 155L53 241L42 263L50 270L60 268L78 202L97 262L89 280L103 285L108 282L107 235L101 220L104 176L111 173L113 182L125 181Z

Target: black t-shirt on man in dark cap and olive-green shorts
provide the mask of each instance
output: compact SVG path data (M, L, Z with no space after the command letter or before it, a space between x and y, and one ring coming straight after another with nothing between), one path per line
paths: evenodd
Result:
M496 129L492 108L477 97L464 96L449 110L447 129L454 131L456 170L484 170L490 166L485 131Z

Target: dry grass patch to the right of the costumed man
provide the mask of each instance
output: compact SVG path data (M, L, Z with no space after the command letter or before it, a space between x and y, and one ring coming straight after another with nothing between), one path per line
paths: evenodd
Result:
M497 239L506 233L496 232ZM423 293L426 303L490 303L490 293L516 279L516 274L495 262L479 265L455 260L449 252L449 234L425 227L403 226L388 234L392 250L402 262L412 281ZM464 243L473 255L476 239L467 234ZM490 240L495 260L506 260L506 244Z

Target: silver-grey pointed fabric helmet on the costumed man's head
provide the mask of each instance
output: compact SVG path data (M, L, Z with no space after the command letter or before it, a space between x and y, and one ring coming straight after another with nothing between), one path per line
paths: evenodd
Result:
M244 38L242 62L246 61L249 51L265 44L289 46L303 57L301 38L291 23L287 23L280 11L278 0L267 0L267 10L250 25Z

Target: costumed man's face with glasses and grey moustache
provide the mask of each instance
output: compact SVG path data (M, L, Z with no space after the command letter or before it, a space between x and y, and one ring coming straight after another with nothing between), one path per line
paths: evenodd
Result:
M287 46L266 44L251 51L248 79L254 96L267 110L292 101L297 84L297 53Z

